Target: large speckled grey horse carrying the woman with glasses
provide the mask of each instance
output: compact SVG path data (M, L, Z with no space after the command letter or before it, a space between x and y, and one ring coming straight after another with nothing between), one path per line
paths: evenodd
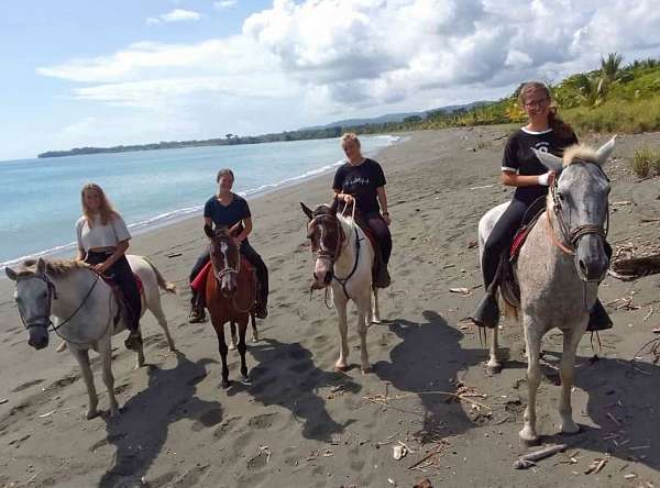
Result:
M541 381L541 339L553 328L563 333L560 365L561 431L580 430L573 421L571 387L575 354L586 330L598 284L605 277L609 259L605 252L605 225L608 215L609 181L602 169L614 149L615 137L600 149L574 146L565 151L563 160L549 153L536 152L539 160L557 171L556 185L547 199L547 211L529 233L514 265L520 288L520 302L506 300L506 309L517 318L522 312L525 344L528 355L527 386L529 399L520 437L538 442L536 396ZM486 242L507 203L491 209L479 223L480 249ZM503 290L506 297L506 287ZM517 306L517 307L516 307ZM508 313L507 313L508 314ZM497 328L493 329L490 370L499 370Z

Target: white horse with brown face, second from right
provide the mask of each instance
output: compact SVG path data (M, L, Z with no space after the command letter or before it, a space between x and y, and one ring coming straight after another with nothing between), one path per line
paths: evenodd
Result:
M314 211L300 203L309 219L307 236L311 241L315 259L312 289L330 286L332 301L339 319L341 346L334 365L338 371L349 368L349 343L346 339L346 307L349 300L358 306L358 334L362 373L371 373L366 351L366 330L371 323L380 323L378 291L372 286L375 253L370 240L352 217L337 213L337 200L332 207L319 206ZM373 293L373 309L372 309Z

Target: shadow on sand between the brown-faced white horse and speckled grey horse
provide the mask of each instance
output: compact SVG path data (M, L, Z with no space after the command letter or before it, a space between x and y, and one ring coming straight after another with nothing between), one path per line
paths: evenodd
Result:
M403 342L392 350L391 362L374 365L375 374L399 391L453 392L460 384L460 374L483 363L485 354L482 350L463 350L463 334L435 311L427 310L422 315L426 322L396 319L386 323ZM470 419L452 397L420 395L419 400L425 411L415 436L422 443L460 434L479 422Z

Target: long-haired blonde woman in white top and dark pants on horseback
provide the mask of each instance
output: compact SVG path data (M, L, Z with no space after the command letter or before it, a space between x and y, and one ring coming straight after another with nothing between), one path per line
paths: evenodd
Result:
M141 298L135 277L125 256L131 233L121 215L112 208L101 187L87 184L80 191L82 217L76 223L78 259L91 265L119 286L129 308L125 322L131 331L125 340L130 350L141 345Z

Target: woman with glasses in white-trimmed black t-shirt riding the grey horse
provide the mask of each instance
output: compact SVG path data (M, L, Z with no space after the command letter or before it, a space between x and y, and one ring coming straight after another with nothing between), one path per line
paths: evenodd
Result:
M514 235L522 222L530 206L548 195L548 187L553 184L554 171L541 165L532 148L562 156L563 149L578 144L573 130L559 117L551 107L550 90L540 82L527 82L520 88L518 96L529 123L512 134L504 149L502 162L502 182L515 187L514 198L502 214L484 246L482 271L486 290L493 282L503 253L512 245ZM499 319L497 301L494 293L487 293L479 303L472 320L481 326L496 326ZM491 313L488 313L488 311ZM600 301L592 311L587 330L609 329L612 321Z

